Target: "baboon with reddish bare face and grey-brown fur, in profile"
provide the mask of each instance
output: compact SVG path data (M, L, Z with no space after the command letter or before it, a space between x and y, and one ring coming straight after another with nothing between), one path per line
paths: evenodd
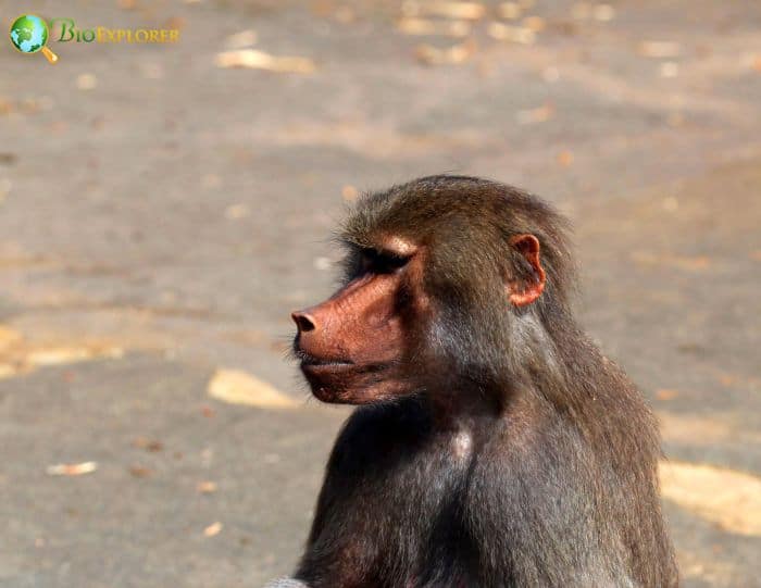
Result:
M295 312L312 392L357 404L295 578L311 588L664 588L656 420L582 331L565 220L439 175L364 196L344 285Z

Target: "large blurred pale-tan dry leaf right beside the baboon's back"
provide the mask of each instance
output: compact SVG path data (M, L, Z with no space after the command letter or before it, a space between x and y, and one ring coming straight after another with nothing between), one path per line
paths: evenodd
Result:
M712 465L661 462L661 492L701 518L761 537L761 478Z

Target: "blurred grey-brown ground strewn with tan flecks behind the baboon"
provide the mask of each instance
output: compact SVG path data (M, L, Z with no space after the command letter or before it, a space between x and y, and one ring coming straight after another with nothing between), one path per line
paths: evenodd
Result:
M288 573L346 410L285 359L364 190L575 225L577 309L662 424L684 586L761 586L761 4L0 1L173 45L0 42L0 585ZM5 35L5 33L3 33Z

